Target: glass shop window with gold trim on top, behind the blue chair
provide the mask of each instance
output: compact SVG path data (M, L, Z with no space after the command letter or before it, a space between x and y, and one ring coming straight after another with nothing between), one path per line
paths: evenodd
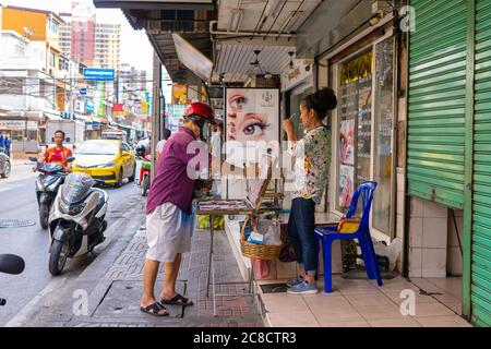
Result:
M358 184L370 180L373 52L338 65L338 195L346 212Z

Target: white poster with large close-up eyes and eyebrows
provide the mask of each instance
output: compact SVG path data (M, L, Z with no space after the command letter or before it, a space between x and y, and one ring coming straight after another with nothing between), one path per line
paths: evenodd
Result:
M261 151L279 144L279 89L225 89L226 161L239 168L258 163ZM261 149L261 151L259 151ZM243 180L228 179L227 197L243 198Z

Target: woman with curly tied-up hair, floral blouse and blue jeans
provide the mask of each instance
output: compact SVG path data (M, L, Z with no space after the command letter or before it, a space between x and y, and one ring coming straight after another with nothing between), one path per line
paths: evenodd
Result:
M331 88L323 88L304 97L300 103L300 120L306 135L300 141L297 141L291 120L283 123L290 152L295 156L295 185L288 236L299 263L299 275L287 282L288 293L319 291L315 285L318 255L314 212L325 191L331 165L331 131L322 121L336 105L337 99Z

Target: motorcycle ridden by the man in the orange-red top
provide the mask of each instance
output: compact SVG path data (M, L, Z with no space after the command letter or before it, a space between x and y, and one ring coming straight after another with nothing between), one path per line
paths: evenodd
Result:
M72 163L75 158L69 157L68 163ZM36 163L37 170L40 172L36 181L36 197L39 206L39 224L43 229L48 229L48 217L51 206L57 196L58 189L63 184L64 168L57 164L41 164L35 157L29 157L31 161Z

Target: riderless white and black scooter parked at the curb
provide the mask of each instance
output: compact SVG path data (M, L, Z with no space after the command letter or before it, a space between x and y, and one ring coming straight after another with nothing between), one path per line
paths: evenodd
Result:
M108 195L85 173L70 173L49 216L49 273L59 275L67 260L92 253L106 239Z

